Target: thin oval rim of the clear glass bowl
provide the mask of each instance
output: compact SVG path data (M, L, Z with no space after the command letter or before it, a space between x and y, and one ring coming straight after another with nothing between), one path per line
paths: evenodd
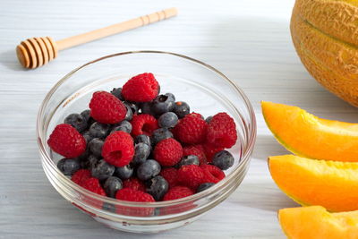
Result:
M231 172L229 175L226 175L226 177L223 180L221 180L214 186L210 187L209 189L207 189L203 192L194 193L191 196L173 200L173 201L155 201L155 202L119 201L119 200L116 200L113 198L109 198L107 196L101 196L95 192L90 192L89 190L82 188L80 185L73 183L71 179L69 179L67 176L62 174L62 172L57 168L57 166L55 166L55 163L52 160L52 158L47 154L47 150L45 149L45 146L44 146L43 142L41 141L41 134L42 134L42 130L41 130L42 125L40 125L42 123L41 115L44 111L44 108L47 107L48 100L55 93L55 90L57 90L57 88L60 87L64 83L64 81L69 79L72 76L72 74L80 71L82 68L85 68L87 65L95 64L99 61L102 61L102 60L105 60L108 58L112 58L115 56L137 55L137 54L172 55L172 56L177 56L179 58L183 58L184 60L187 60L194 64L200 64L200 66L203 66L203 67L209 69L210 71L217 73L222 79L226 80L234 88L234 90L236 90L237 93L243 98L243 103L244 103L245 107L247 108L247 110L249 111L249 115L251 117L251 122L250 122L251 130L249 129L247 131L248 132L248 135L247 135L248 141L247 141L246 150L243 151L243 156L241 158L241 162L234 169L234 171ZM218 71L216 68L214 68L213 66L211 66L209 64L206 64L204 62L201 62L200 60L194 59L194 58L186 56L186 55L177 54L177 53L168 52L168 51L138 50L138 51L120 52L120 53L115 53L115 54L99 57L98 59L92 60L86 64L82 64L81 66L73 69L70 73L67 73L66 75L64 75L64 77L62 79L60 79L59 81L57 81L55 83L55 85L51 88L51 90L48 91L46 97L44 98L44 100L42 101L42 103L39 107L38 117L37 117L36 136L37 136L39 153L41 154L42 158L45 158L47 165L51 166L51 168L53 170L55 170L58 173L58 175L60 175L60 177L62 177L62 180L64 180L64 181L62 181L62 184L64 184L64 183L69 184L74 190L81 192L83 195L90 197L92 200L103 201L103 202L107 202L107 203L110 203L113 205L121 205L121 206L126 206L126 207L150 208L150 207L175 206L175 205L180 205L182 203L186 203L189 201L199 201L200 199L203 199L206 196L208 196L214 192L218 192L221 188L225 187L226 183L233 180L234 176L238 175L238 173L243 169L243 166L246 165L246 162L251 158L251 153L252 153L255 141L256 141L256 133L257 133L256 131L257 131L256 117L255 117L255 113L254 113L253 107L251 106L251 102L250 102L249 98L245 95L243 90L234 81L229 79L224 73L221 73L220 71ZM44 143L47 143L46 139L45 139Z

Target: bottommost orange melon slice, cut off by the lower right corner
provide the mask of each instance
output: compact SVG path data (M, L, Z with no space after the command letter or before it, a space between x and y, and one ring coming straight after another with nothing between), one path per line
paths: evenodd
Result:
M292 239L358 238L358 211L329 213L320 206L280 209L278 220Z

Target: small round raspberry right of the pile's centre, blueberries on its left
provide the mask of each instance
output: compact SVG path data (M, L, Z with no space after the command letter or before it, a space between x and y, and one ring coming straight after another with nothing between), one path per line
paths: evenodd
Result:
M159 141L154 149L154 158L161 166L175 166L182 156L182 145L173 138Z

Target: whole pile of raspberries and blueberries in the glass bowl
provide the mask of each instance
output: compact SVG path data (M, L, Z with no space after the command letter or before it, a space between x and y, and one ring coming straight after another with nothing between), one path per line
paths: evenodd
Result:
M171 93L159 95L152 73L123 88L97 91L90 109L51 133L57 167L75 184L124 201L170 201L208 189L234 165L237 135L226 113L204 119Z

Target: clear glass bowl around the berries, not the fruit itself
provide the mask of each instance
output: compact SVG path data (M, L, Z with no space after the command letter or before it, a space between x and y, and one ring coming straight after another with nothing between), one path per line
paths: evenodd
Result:
M49 134L64 117L88 108L96 90L112 90L139 73L154 73L161 92L172 92L191 110L204 116L227 112L239 135L230 151L234 166L226 178L204 192L175 201L116 201L87 191L56 167L60 157L47 146ZM249 99L234 81L209 64L185 55L159 51L124 52L84 64L58 81L38 112L38 149L50 183L67 201L107 226L135 233L157 233L184 226L224 201L241 184L256 138L256 121Z

